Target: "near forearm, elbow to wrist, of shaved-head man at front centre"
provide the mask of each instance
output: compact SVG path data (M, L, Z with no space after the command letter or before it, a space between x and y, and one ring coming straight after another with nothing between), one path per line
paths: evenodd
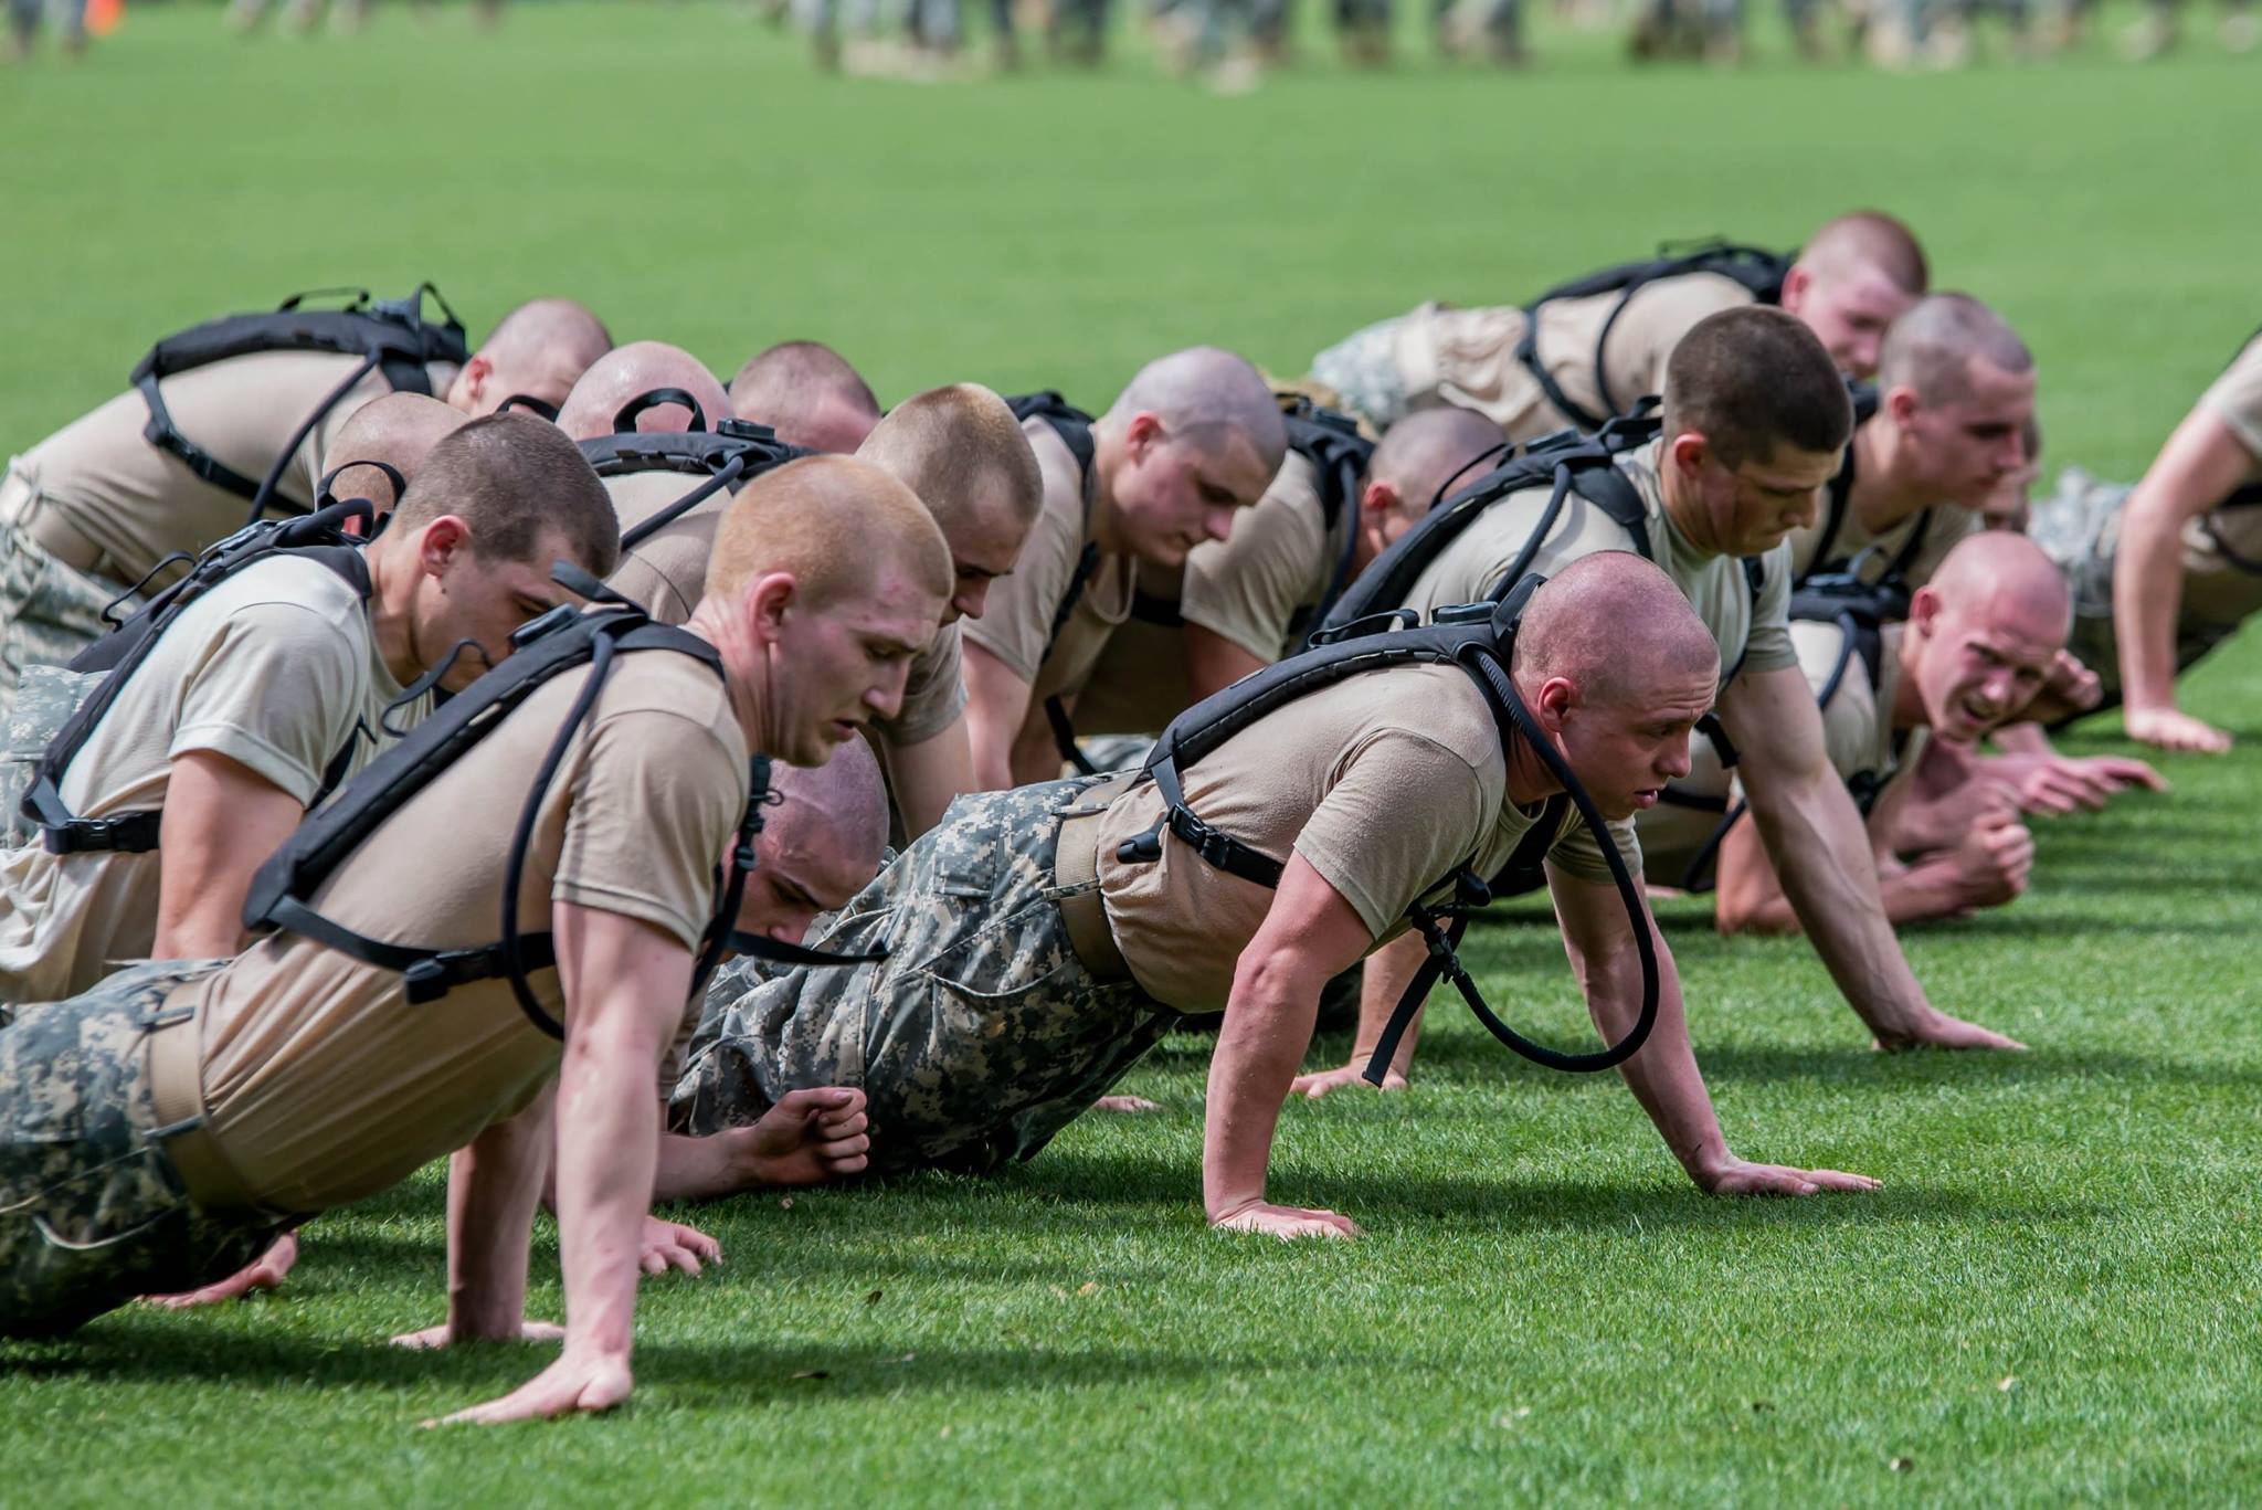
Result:
M1201 1200L1212 1222L1264 1200L1274 1127L1312 1041L1326 971L1285 953L1242 955L1210 1057Z

